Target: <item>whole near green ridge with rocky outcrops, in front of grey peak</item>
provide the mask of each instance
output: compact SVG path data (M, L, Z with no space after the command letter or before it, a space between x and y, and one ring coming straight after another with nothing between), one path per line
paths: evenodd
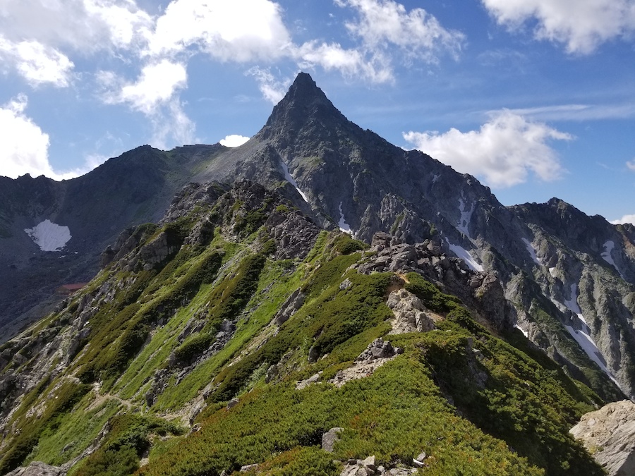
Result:
M607 399L435 240L205 183L102 263L0 348L0 474L602 474L568 430Z

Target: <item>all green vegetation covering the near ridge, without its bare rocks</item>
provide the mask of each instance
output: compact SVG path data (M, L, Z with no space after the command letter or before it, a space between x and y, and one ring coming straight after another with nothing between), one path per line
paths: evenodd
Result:
M113 266L99 276L113 291L71 363L82 383L44 379L23 398L13 416L23 432L8 440L0 471L30 460L60 464L106 429L70 475L219 475L258 463L258 474L336 476L337 460L375 455L377 464L409 465L421 451L426 475L602 474L568 434L603 403L588 386L516 334L492 336L458 298L416 273L404 287L445 319L435 331L387 337L385 299L398 280L351 267L368 245L322 232L305 260L275 260L262 223L289 209L271 200L258 207L240 200L213 212L200 207L197 214L222 224L205 247L183 245L193 216L136 231L144 243L166 233L178 252L152 269ZM298 289L303 304L277 324ZM225 320L229 341L200 359ZM47 322L63 329L71 321L67 312ZM404 353L340 388L327 383L378 337ZM274 364L277 374L265 384ZM317 372L317 383L296 390L296 381ZM90 391L93 382L101 394ZM201 395L207 406L192 416ZM183 434L165 415L192 417L200 429ZM331 427L344 431L326 453L320 441ZM139 468L142 456L150 462Z

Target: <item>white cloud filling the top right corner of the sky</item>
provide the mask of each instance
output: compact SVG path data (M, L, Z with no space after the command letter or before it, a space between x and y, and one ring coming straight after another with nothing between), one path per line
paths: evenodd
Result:
M514 30L536 20L537 39L566 44L569 53L589 54L610 39L635 32L633 0L482 0L497 22Z

